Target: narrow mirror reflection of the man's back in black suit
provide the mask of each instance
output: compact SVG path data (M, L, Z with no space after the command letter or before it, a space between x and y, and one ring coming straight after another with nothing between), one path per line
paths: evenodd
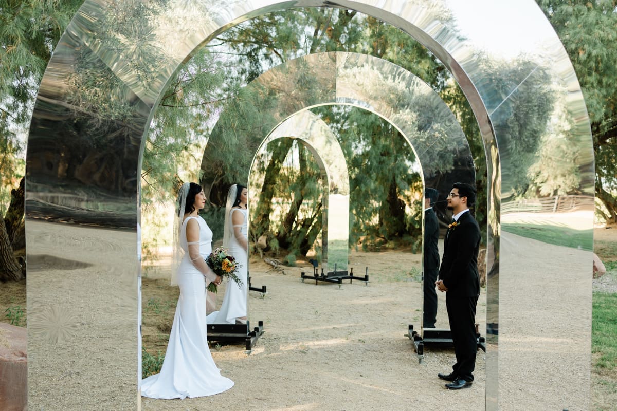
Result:
M424 328L435 328L437 319L437 291L435 282L439 271L439 222L437 214L431 204L434 204L439 197L436 189L427 187L424 189L424 304L423 321Z

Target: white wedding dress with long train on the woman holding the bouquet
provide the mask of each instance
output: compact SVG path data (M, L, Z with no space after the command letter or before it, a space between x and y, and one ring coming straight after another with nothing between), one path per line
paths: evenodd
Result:
M184 219L180 231L184 257L178 270L180 298L163 367L159 374L141 381L141 395L144 397L204 397L222 393L234 385L233 381L220 374L208 348L205 279L191 262L186 242L186 224L193 218L199 222L199 254L206 258L212 252L212 230L204 219Z

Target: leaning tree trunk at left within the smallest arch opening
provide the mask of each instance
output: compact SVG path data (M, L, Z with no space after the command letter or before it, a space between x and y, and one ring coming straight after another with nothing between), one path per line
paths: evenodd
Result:
M274 188L276 187L276 181L278 180L281 166L283 166L283 161L291 149L292 142L292 139L280 139L276 142L278 145L272 150L272 158L270 158L265 177L263 177L263 187L259 193L257 210L255 210L255 224L251 222L251 232L255 233L255 238L261 237L270 230L270 212L272 211Z

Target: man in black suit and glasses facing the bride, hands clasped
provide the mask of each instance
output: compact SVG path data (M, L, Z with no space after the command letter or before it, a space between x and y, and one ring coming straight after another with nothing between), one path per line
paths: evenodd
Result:
M442 380L451 381L445 387L461 389L471 386L476 367L476 304L480 295L478 247L480 228L469 207L476 201L476 190L466 183L453 184L448 195L448 210L453 221L445 234L444 256L435 283L445 294L445 307L450 322L456 364L449 374L439 373Z

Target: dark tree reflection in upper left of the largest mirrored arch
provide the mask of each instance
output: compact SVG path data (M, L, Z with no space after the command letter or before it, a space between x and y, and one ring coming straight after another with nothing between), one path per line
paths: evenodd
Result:
M66 74L48 76L41 86L28 150L32 182L51 184L60 191L81 191L102 203L106 198L113 203L113 198L135 196L141 137L150 111L138 93L151 86L155 67L163 62L151 33L155 13L144 9L136 13L130 8L135 6L136 2L118 4L114 16L101 9L81 9L75 24L93 29L96 38L85 33L87 46L76 47L67 36L57 47L50 70ZM130 18L135 18L132 25L126 24ZM83 208L106 206L93 202ZM131 213L115 211L109 224L134 225ZM93 214L96 221L99 214ZM71 218L80 220L77 215ZM104 220L100 222L106 224Z

